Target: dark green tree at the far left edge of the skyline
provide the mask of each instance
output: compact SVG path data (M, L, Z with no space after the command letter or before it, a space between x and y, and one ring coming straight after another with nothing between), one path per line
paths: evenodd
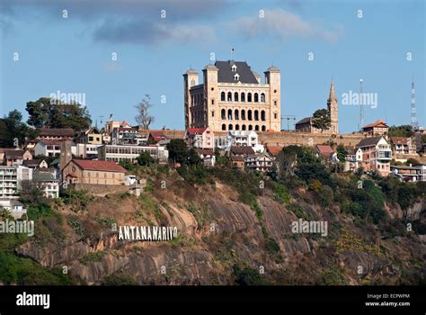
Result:
M22 113L18 110L13 110L0 119L0 147L13 148L15 144L22 147L29 134L30 130L22 121Z

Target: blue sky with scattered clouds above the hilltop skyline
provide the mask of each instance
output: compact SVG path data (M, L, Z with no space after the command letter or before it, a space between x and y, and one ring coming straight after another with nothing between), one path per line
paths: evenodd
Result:
M362 79L365 123L409 124L414 78L425 126L425 20L423 0L0 0L0 116L26 120L27 102L60 91L84 95L93 125L110 114L137 124L150 94L151 128L182 130L182 74L234 48L261 74L280 68L281 115L326 107L333 79L339 130L357 130L347 96Z

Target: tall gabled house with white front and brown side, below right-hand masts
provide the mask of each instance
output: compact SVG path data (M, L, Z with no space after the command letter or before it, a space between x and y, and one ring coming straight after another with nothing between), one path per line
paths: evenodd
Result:
M362 152L359 166L363 171L373 170L381 176L389 175L392 150L385 137L377 136L362 139L356 148Z

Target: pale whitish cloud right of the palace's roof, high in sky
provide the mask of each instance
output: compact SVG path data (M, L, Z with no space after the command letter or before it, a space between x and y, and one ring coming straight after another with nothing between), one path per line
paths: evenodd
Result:
M307 22L301 16L282 9L265 10L261 18L244 16L229 25L246 39L274 36L280 40L290 37L316 37L336 41L338 32L324 30L321 25Z

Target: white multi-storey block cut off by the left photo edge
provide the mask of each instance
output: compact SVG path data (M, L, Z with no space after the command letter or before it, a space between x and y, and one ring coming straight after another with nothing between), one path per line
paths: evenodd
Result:
M25 182L32 180L32 169L25 166L0 166L0 198L18 198Z

